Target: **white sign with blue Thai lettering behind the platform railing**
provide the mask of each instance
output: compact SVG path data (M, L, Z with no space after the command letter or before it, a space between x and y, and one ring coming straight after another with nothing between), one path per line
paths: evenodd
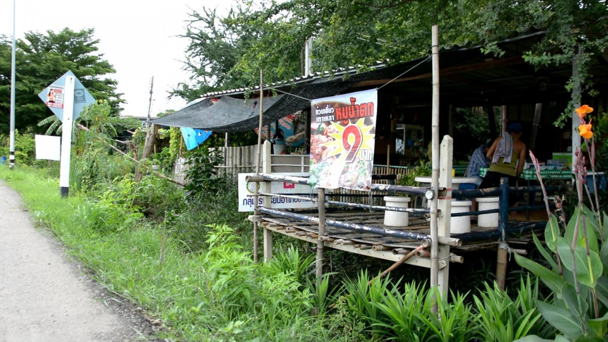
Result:
M308 176L306 172L283 172L275 173L277 175L285 176ZM239 173L238 174L238 211L254 211L254 200L255 197L251 195L255 194L256 188L259 183L247 182L245 177L247 175L253 176L254 173ZM272 182L271 183L272 194L282 195L300 195L310 196L311 191L308 185L294 184L288 182ZM313 198L317 195L314 194ZM258 206L262 205L262 197L258 197ZM271 208L274 209L286 209L286 208L316 208L317 203L313 201L307 201L300 198L286 198L286 197L272 197Z

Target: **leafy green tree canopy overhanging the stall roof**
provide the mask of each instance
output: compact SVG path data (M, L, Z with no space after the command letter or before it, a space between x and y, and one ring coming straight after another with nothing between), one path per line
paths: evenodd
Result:
M530 29L544 38L524 58L532 65L570 63L579 54L579 77L568 87L590 91L589 66L608 47L606 0L286 0L240 6L225 17L215 10L191 14L188 63L192 86L176 96L192 100L211 90L255 86L259 71L275 82L302 74L302 47L313 37L312 70L399 63L430 51L430 27L442 47L480 45L500 55L496 43ZM195 58L192 58L195 57Z

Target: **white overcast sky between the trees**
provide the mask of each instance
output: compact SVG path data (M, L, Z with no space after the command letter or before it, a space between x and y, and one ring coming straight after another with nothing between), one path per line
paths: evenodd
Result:
M116 69L118 92L127 101L123 115L147 116L150 80L154 76L152 115L167 109L179 110L185 101L167 100L168 91L188 74L181 70L187 40L185 20L192 9L202 6L229 7L232 0L16 0L16 37L24 32L78 31L94 28L100 53ZM13 0L0 1L0 34L13 35ZM60 77L61 75L57 75Z

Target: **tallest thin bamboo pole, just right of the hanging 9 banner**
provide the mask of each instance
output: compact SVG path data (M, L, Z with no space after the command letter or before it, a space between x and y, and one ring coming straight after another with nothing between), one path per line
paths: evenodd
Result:
M432 71L433 71L433 99L432 99L432 173L430 187L437 190L439 187L439 30L437 25L432 27ZM437 196L430 200L430 287L438 285L439 271L439 239L437 227ZM437 305L434 305L434 312Z

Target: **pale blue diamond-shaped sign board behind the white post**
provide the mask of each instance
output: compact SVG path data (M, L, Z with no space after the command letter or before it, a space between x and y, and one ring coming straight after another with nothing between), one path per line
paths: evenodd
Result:
M95 103L95 99L91 95L91 93L85 88L85 86L80 83L80 80L74 75L73 72L68 71L52 85L47 86L46 89L38 94L41 100L46 103L46 106L50 108L53 114L57 115L61 122L63 122L63 99L65 96L65 88L66 88L66 77L74 76L74 116L72 116L73 120L78 119L80 113L85 109L86 106L91 103Z

